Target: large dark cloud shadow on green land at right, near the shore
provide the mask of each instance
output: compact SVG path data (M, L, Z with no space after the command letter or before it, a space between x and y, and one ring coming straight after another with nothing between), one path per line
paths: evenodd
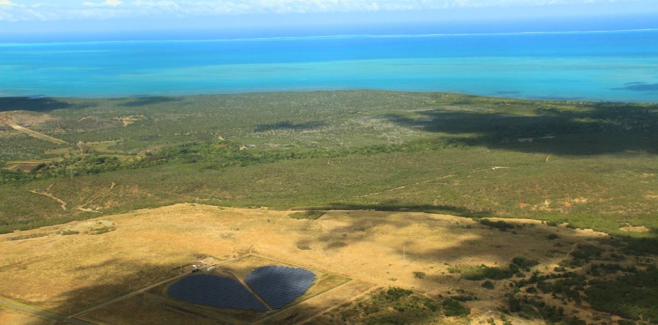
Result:
M560 155L658 153L658 105L507 99L480 103L468 97L448 105L453 106L384 118L407 128L449 134L448 143L491 149ZM527 105L537 107L531 115L501 112L528 111ZM473 108L478 106L491 109Z

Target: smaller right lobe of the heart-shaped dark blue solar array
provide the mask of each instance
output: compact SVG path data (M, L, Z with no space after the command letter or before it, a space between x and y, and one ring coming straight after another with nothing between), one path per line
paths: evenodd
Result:
M263 266L245 277L245 283L273 309L280 309L303 295L313 284L315 274L303 268Z

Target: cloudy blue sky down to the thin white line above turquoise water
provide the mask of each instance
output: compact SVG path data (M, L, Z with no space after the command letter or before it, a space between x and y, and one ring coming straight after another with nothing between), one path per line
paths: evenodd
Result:
M0 0L0 41L658 28L658 0Z

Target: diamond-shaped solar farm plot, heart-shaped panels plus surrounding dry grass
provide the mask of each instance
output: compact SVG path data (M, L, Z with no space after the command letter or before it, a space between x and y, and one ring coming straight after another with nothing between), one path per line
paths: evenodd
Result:
M282 318L290 320L291 314L307 314L313 305L309 301L345 299L340 290L338 294L327 291L358 284L356 293L350 293L358 294L372 288L372 284L259 253L223 261L203 257L193 263L185 274L146 291L145 299L219 322L280 324Z

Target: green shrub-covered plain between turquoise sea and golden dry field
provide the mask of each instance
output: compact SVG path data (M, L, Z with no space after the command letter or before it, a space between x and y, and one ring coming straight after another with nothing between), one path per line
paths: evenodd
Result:
M654 104L400 91L3 97L0 119L2 233L180 202L533 218L642 240L658 230Z

